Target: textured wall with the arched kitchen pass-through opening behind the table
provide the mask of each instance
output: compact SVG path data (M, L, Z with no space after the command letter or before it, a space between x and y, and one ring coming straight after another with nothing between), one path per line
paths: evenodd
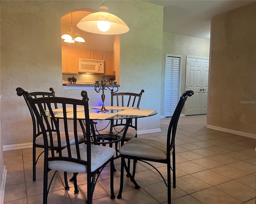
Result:
M102 1L2 1L1 108L3 145L32 142L32 122L16 87L81 98L81 90L62 87L60 18L78 8L97 9ZM163 8L140 1L107 1L130 31L120 36L120 91L140 92L141 107L160 112ZM110 93L106 93L106 105ZM100 95L88 90L90 105ZM158 129L160 114L139 120L139 130Z

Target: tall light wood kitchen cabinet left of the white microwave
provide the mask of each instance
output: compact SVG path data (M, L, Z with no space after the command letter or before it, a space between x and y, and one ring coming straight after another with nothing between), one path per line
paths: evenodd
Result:
M77 48L62 47L62 73L78 73L77 52Z

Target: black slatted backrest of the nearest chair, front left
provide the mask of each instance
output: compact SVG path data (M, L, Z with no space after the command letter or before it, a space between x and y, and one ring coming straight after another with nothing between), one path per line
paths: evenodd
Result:
M81 132L82 127L80 123L80 119L78 119L77 109L80 107L84 108L85 115L85 134L86 141L90 141L90 119L89 119L89 106L88 106L88 97L87 92L82 91L82 100L79 99L71 99L64 97L40 97L40 98L32 98L32 96L24 89L19 89L17 91L17 95L23 95L24 98L28 101L32 111L34 112L36 119L40 125L40 129L42 130L42 135L44 137L44 158L46 161L53 160L62 160L62 161L70 161L76 162L80 164L87 165L88 169L90 168L90 153L91 153L91 143L88 142L86 145L87 148L87 162L81 160L81 154L79 149L79 139L78 133ZM44 110L44 104L48 111ZM63 112L61 117L57 117L60 114L56 115L56 112L53 111L52 107L54 104L57 104L59 107L62 107ZM67 111L68 108L68 111ZM68 119L70 113L70 108L72 109L74 117L72 120ZM68 113L68 114L67 114ZM49 119L50 118L50 119ZM56 131L52 130L52 125L54 124ZM61 145L61 133L64 132L66 137L66 148L63 148ZM53 135L57 135L58 147L53 145ZM69 135L74 136L75 144L70 145ZM49 137L49 140L48 140ZM50 141L50 144L49 142ZM72 148L75 148L75 151L72 151ZM51 149L55 149L58 154L52 153L50 157L48 157L48 151ZM66 150L65 150L66 149ZM68 156L62 156L64 151L68 153Z

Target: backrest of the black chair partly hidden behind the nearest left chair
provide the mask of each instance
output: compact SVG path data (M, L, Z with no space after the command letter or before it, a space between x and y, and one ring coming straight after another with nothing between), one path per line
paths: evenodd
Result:
M22 90L25 90L25 89L22 89L20 87L16 88L16 91L17 91L17 94L18 94L18 91L22 91ZM42 92L42 91L36 91L36 92L30 92L29 95L31 97L34 97L34 98L38 98L38 97L55 97L55 92L53 90L53 88L51 87L49 89L51 92ZM23 95L23 94L22 94ZM21 96L21 95L20 95ZM31 118L32 118L32 124L33 124L33 143L36 141L36 137L40 136L42 134L41 130L40 130L40 127L39 127L39 124L38 124L38 121L36 120L35 118L35 115L34 115L34 112L32 110L32 107L30 106L30 104L28 103L28 100L26 99L26 96L23 95L25 101L26 101L26 104L28 106L28 109L29 109L29 112L30 112L30 115L31 115ZM53 107L55 107L55 109L58 108L57 104L53 104ZM46 104L44 104L44 110L46 111Z

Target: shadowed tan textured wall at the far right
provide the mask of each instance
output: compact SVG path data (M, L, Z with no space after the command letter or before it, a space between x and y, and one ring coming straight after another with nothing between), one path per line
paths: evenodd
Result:
M256 3L212 18L208 125L256 134L255 22Z

